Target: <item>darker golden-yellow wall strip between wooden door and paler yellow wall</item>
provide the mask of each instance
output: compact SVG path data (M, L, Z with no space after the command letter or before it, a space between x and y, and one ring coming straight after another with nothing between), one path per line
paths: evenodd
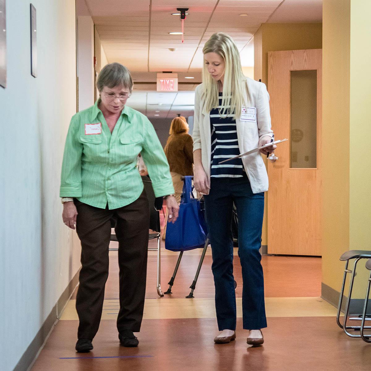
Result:
M339 256L349 249L350 1L324 0L323 25L322 282L340 291Z

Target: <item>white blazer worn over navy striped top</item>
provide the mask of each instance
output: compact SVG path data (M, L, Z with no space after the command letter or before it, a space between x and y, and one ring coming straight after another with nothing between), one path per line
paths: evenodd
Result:
M269 94L264 83L246 78L245 99L248 107L256 108L256 121L241 121L236 118L237 138L240 153L258 147L259 139L266 135L272 137L270 125ZM196 88L193 123L193 151L201 149L202 165L210 179L211 130L210 111L206 111L203 98L203 84ZM253 193L268 190L268 175L260 152L242 157L242 163L249 178Z

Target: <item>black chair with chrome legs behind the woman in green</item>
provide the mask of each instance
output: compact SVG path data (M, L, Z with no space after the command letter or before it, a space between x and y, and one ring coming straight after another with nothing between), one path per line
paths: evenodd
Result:
M150 178L146 175L142 176L142 181L144 185L145 193L147 194L148 198L148 207L150 208L150 229L154 233L148 234L148 239L153 240L157 238L157 248L156 249L148 249L148 251L157 251L157 293L159 296L164 296L164 293L161 290L161 238L160 238L160 209L156 209L155 205L160 204L157 202L158 200L155 198L155 193L152 188L152 182ZM162 197L161 197L162 203ZM113 225L112 225L113 224ZM112 228L115 226L115 222L111 223ZM116 234L111 234L111 241L118 242ZM109 248L109 251L117 251L117 248Z

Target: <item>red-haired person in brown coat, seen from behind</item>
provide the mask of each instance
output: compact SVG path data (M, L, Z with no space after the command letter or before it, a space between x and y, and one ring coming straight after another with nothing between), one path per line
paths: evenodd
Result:
M188 134L189 126L185 118L175 117L171 121L169 138L164 151L170 166L170 174L173 179L175 199L180 203L183 189L181 176L193 175L193 139ZM165 230L162 239L165 239Z

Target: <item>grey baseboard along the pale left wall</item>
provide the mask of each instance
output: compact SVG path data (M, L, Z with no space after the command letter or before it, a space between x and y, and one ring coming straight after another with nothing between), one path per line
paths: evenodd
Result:
M68 299L70 298L73 291L75 290L79 282L79 272L80 270L75 274L75 276L69 282L67 288L64 290L62 295L60 295L60 298L58 299L56 305L50 311L46 320L42 324L40 330L37 332L35 338L32 340L31 344L28 346L26 351L23 353L16 367L14 367L13 371L27 371L31 368L37 356L39 355L39 352L41 351L43 345L45 344L46 339L49 337L54 326L56 325L58 318L60 316L60 313L62 312L63 308L68 302Z

